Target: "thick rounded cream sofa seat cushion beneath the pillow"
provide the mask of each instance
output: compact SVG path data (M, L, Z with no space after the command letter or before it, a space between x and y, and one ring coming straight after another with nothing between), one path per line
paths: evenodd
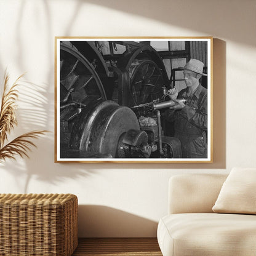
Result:
M170 214L159 221L164 256L256 255L256 216Z

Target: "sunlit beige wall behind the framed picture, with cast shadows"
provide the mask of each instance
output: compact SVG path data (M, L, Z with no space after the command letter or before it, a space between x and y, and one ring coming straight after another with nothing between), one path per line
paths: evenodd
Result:
M51 133L0 166L0 192L76 194L79 236L156 236L169 177L255 167L255 11L255 0L1 0L1 81L6 68L27 81L14 135ZM55 164L54 36L214 36L214 163Z

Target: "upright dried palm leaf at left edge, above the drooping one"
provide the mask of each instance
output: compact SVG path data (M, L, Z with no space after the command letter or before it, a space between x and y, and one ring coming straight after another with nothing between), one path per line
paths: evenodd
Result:
M22 75L23 76L23 75ZM17 108L15 101L18 98L18 81L22 76L19 76L14 84L8 90L9 75L6 73L4 76L4 92L2 94L1 110L0 110L0 146L7 140L7 134L10 130L17 125L15 110Z

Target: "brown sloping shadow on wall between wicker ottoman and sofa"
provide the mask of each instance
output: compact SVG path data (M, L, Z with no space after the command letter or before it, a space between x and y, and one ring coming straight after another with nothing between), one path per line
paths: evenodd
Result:
M78 206L78 236L156 237L158 223L107 206Z

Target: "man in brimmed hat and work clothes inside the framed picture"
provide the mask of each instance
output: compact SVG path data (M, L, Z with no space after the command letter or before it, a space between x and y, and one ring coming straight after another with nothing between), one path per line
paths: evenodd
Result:
M204 63L190 59L183 70L186 88L177 98L184 98L164 114L167 121L174 121L174 137L182 145L182 158L207 158L207 89L199 79L207 76L203 73Z

